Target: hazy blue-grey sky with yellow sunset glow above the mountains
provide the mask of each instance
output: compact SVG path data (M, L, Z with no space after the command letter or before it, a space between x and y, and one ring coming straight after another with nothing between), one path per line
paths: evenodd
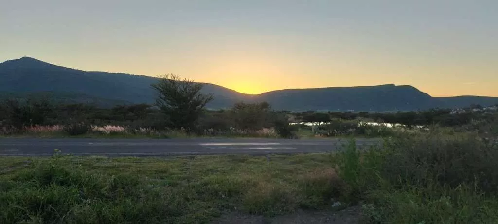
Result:
M497 0L0 0L0 61L498 97Z

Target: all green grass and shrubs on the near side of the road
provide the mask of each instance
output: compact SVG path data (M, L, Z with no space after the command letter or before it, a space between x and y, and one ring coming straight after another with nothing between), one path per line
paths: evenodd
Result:
M498 141L403 134L335 154L0 158L0 223L209 223L361 205L374 224L498 223Z

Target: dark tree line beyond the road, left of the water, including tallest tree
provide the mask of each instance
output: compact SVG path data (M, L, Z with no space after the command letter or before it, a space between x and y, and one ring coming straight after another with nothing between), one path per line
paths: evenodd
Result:
M112 108L85 103L53 104L50 99L42 97L8 99L0 104L0 122L2 126L18 129L36 125L64 124L84 128L112 124L156 130L182 129L189 134L206 129L259 130L273 127L282 137L291 134L286 116L272 110L266 102L240 102L227 110L208 111L205 106L214 96L202 93L202 84L174 74L162 76L151 88L157 93L155 104Z

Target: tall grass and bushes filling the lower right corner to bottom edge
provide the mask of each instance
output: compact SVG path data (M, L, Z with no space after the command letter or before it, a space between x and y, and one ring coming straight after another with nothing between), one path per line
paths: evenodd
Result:
M399 134L336 164L369 223L497 223L498 148L474 134Z

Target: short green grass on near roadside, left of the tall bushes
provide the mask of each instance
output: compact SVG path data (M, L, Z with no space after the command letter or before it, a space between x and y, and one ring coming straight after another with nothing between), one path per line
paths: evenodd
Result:
M206 223L328 208L330 155L0 159L0 223Z

